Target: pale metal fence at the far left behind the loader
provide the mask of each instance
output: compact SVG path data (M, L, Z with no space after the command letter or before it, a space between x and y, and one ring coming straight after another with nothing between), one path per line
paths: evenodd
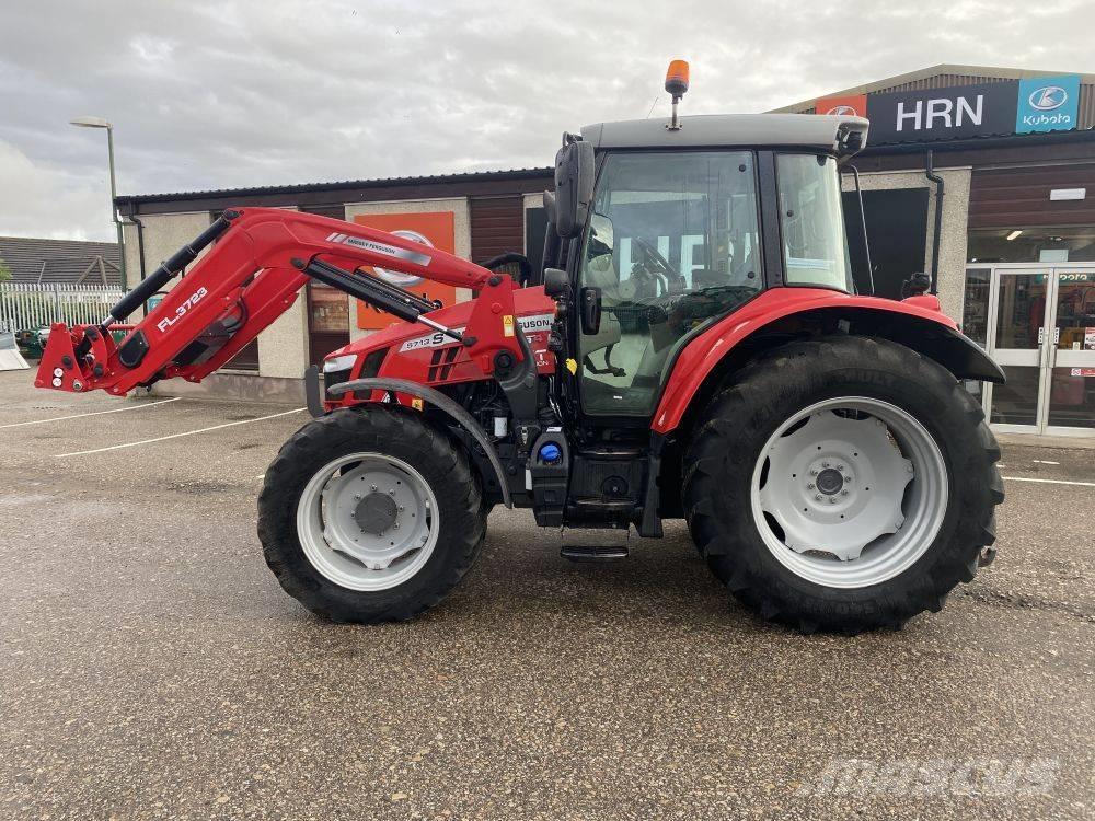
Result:
M53 322L100 322L124 296L124 290L110 286L0 282L0 331L33 331Z

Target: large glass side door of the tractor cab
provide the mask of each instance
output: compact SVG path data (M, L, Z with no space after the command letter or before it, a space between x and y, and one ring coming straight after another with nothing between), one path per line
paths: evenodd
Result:
M649 417L682 344L763 287L751 151L620 152L578 259L599 327L577 338L581 409Z

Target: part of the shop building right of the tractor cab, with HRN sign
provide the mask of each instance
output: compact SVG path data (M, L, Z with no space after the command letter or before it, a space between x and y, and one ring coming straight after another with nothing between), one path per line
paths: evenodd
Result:
M871 119L862 220L844 175L858 288L935 271L1007 375L969 385L992 426L1095 437L1095 76L936 66L780 111Z

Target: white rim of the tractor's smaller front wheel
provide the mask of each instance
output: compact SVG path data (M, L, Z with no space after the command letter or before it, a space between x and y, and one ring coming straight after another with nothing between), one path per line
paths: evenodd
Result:
M297 505L297 535L322 576L350 590L397 587L437 544L437 499L406 462L350 453L308 482Z

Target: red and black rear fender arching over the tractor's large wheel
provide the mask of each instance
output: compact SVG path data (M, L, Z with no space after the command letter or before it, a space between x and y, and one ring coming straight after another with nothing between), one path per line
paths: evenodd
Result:
M818 288L773 288L693 338L678 355L661 391L652 429L668 433L680 425L693 400L711 379L721 377L731 354L762 340L765 334L802 334L811 327L880 336L906 345L943 365L957 379L1003 382L1004 373L954 320L938 310L934 297L898 302Z

